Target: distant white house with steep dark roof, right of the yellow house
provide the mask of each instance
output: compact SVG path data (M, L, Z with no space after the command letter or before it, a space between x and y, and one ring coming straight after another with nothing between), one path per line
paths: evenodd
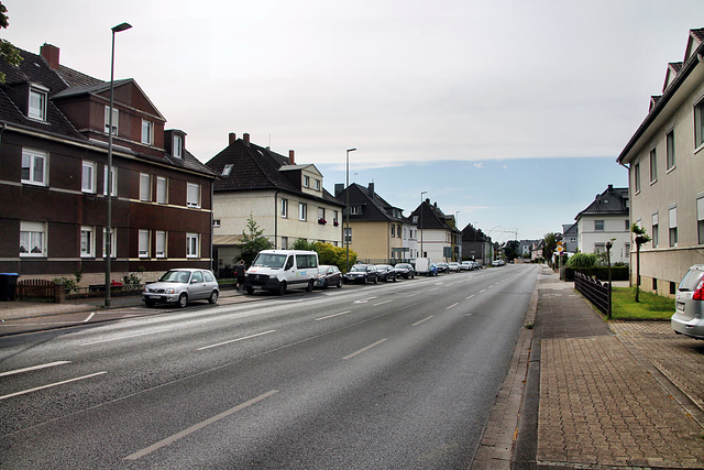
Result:
M447 216L438 203L424 200L411 212L418 220L419 256L432 261L461 261L462 232L455 226L454 216Z

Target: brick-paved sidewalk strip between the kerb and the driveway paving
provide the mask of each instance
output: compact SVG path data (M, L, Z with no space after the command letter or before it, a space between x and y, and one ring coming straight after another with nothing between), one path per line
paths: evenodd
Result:
M536 329L538 468L704 468L702 427L571 283L540 281Z

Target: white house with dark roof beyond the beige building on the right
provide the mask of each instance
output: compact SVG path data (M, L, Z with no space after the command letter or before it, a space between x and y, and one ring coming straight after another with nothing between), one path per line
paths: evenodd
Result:
M592 204L576 215L578 249L582 253L605 253L612 241L612 263L628 263L630 256L630 221L628 188L608 185Z

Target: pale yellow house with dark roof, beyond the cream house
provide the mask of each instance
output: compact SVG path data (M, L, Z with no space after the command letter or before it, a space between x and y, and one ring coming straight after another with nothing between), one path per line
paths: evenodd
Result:
M350 250L359 261L372 263L398 263L417 256L417 225L404 217L404 210L391 205L375 190L353 183L348 188L334 185L340 204L350 201ZM342 223L346 223L346 211ZM346 229L346 227L345 227Z

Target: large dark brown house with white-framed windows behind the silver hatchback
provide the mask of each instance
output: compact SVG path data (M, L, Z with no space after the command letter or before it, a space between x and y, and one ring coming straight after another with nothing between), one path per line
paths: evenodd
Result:
M51 44L0 61L0 272L103 284L210 267L216 175L133 79L114 87L112 227L107 229L110 84L59 64Z

